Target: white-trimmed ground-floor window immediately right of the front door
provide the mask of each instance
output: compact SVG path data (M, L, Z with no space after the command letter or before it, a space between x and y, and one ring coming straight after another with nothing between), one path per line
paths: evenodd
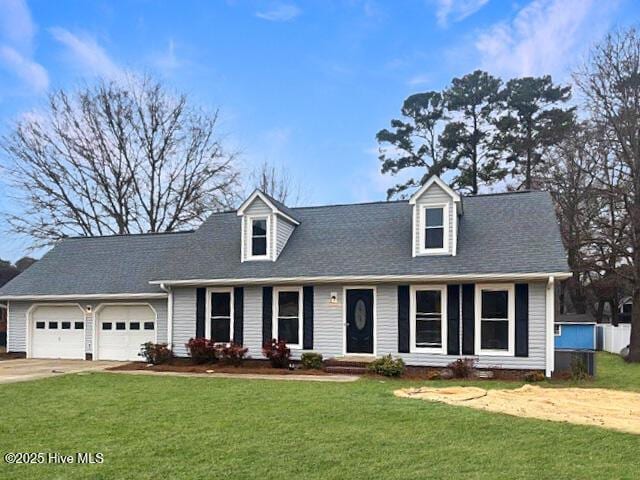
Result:
M412 287L411 312L412 349L445 353L446 287Z

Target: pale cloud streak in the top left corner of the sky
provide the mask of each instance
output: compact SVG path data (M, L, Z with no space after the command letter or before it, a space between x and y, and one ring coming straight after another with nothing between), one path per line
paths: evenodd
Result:
M33 60L36 26L24 0L0 0L0 65L36 92L49 87L47 70Z

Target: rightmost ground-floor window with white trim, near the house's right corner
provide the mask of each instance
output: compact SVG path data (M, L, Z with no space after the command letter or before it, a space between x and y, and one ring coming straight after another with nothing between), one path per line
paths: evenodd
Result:
M513 355L515 295L513 285L477 285L476 348L480 354Z

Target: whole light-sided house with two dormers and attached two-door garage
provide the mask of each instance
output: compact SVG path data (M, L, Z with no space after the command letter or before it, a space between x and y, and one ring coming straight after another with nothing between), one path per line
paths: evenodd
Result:
M196 336L261 358L392 354L408 365L553 371L554 282L570 276L549 194L288 208L255 191L193 232L69 238L0 289L8 351L137 360Z

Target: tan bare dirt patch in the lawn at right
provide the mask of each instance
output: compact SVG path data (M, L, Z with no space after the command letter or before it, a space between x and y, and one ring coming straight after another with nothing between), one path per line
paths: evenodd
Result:
M478 387L405 388L396 390L394 394L517 417L598 426L640 435L640 393L602 388L524 385L511 390L485 390Z

